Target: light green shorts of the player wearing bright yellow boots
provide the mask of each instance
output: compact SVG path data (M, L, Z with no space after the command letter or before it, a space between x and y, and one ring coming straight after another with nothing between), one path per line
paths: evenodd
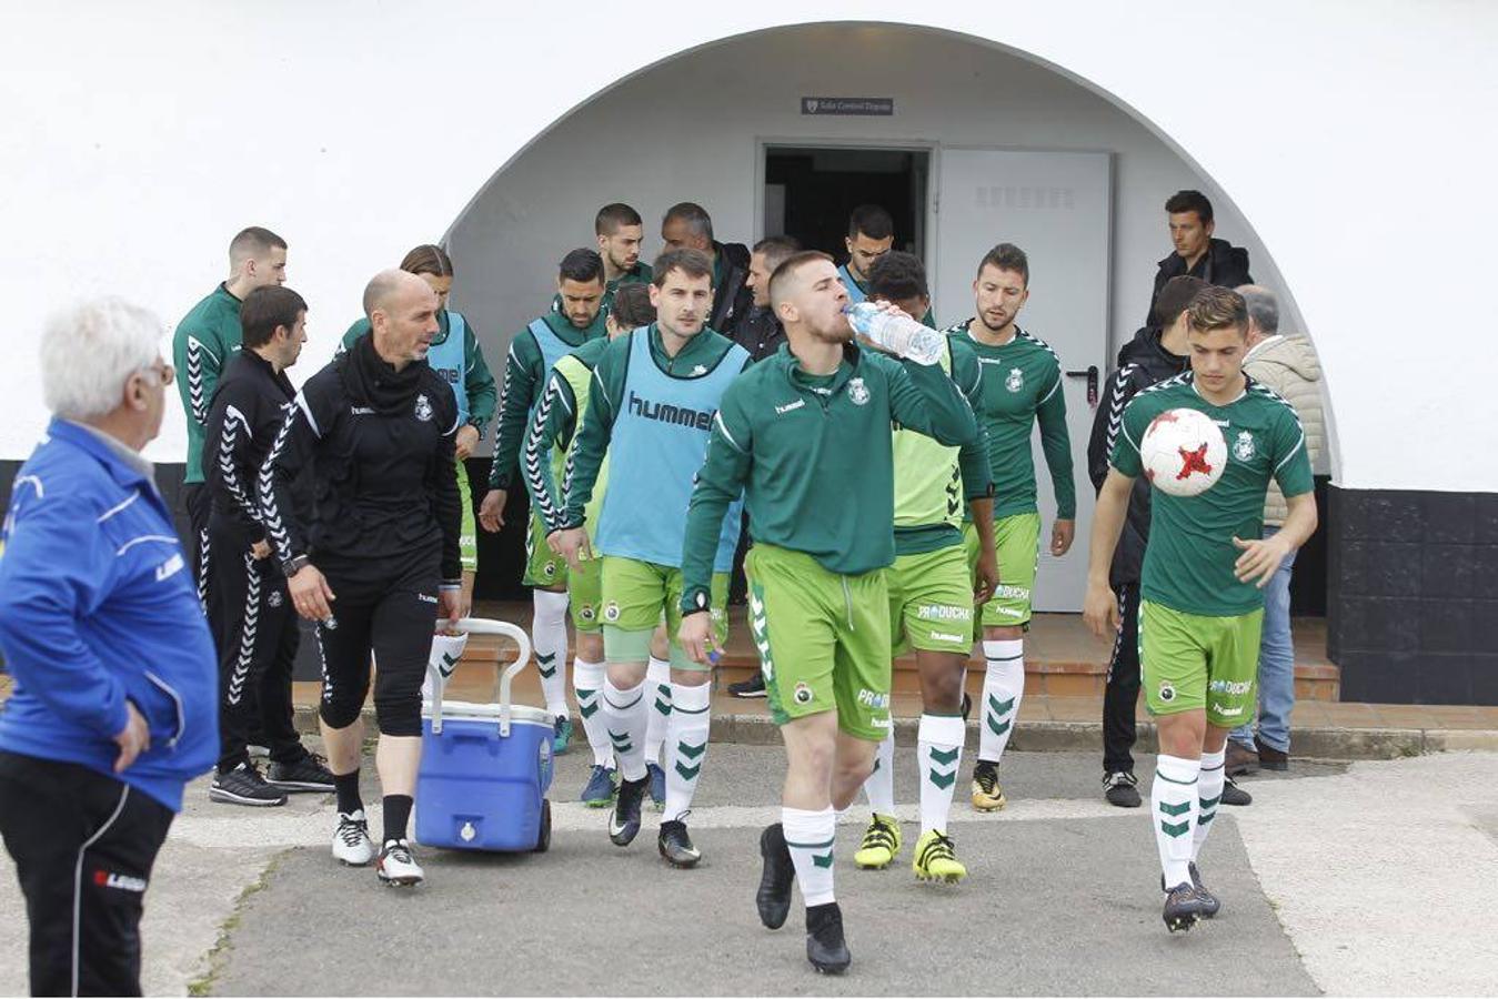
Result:
M972 571L962 545L896 556L884 572L890 589L891 655L972 652Z

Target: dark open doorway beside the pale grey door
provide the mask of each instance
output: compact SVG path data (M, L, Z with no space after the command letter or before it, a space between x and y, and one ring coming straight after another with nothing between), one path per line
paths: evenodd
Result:
M792 235L801 246L848 253L848 216L861 204L894 219L894 249L926 259L930 150L767 145L764 234Z

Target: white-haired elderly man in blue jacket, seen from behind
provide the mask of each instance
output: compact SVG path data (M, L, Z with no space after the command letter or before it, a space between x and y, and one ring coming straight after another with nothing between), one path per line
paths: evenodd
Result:
M0 834L34 995L141 995L142 902L183 785L217 755L217 671L166 503L139 454L172 368L120 300L42 334L52 422L0 532Z

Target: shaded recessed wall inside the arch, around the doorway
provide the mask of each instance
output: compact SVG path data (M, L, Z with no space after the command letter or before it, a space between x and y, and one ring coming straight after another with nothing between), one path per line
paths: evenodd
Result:
M803 115L800 100L810 94L893 97L894 115ZM698 49L635 76L527 148L451 232L455 306L488 334L487 344L508 343L550 304L562 255L593 244L593 211L608 201L626 201L644 216L646 259L661 250L659 220L677 201L701 202L721 240L753 243L761 235L759 139L1113 153L1112 349L1107 359L1062 358L1104 370L1141 325L1155 265L1171 250L1165 198L1182 187L1210 187L1125 111L1011 52L918 28L785 28ZM1246 246L1255 279L1278 285L1267 252L1236 208L1221 196L1216 204L1218 235ZM992 241L1004 237L995 232ZM966 283L977 261L951 267ZM1034 297L1067 294L1047 282L1043 267L1031 288ZM972 301L938 301L936 310L942 324L956 322L972 315ZM1294 325L1287 318L1285 327Z

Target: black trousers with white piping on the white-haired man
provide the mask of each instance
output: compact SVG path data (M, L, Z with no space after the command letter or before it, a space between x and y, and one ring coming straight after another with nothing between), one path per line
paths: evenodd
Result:
M33 996L141 995L141 912L172 818L87 767L0 752L0 834L25 896Z

